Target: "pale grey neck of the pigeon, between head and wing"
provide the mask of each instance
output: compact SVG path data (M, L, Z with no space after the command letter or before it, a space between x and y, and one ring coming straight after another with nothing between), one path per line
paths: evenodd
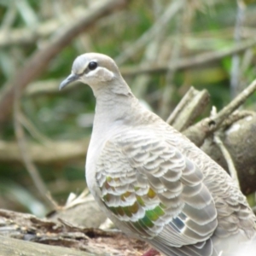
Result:
M147 125L159 119L144 108L131 93L130 87L123 80L122 84L105 84L94 87L96 96L96 114L93 124L95 134L110 135L116 127ZM109 132L111 131L111 132Z

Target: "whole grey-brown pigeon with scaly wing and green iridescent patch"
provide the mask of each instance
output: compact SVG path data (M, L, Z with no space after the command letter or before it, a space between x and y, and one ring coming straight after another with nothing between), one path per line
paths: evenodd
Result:
M74 81L96 97L85 176L113 224L168 256L256 255L255 216L236 183L141 105L111 57L79 55L59 89Z

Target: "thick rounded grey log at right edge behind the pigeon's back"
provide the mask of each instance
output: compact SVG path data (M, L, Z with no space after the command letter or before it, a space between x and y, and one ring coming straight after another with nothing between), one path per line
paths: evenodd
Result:
M233 118L234 115L234 118ZM231 125L230 122L234 121ZM226 122L225 122L226 123ZM241 191L244 195L256 190L256 113L236 112L230 117L227 126L221 126L218 137L229 152L232 163L236 168ZM226 124L225 124L226 125ZM214 133L215 135L215 133ZM214 137L214 136L213 136ZM230 163L221 152L212 137L207 137L201 149L218 162L226 171L229 171ZM231 167L233 168L233 167ZM231 170L232 171L232 170Z

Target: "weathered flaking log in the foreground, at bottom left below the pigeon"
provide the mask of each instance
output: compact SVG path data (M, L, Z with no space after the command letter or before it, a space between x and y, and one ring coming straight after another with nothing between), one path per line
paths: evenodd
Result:
M137 256L148 247L145 242L128 239L119 231L86 229L63 220L41 219L20 212L0 210L0 224L0 255L3 256L15 255L17 251L23 255Z

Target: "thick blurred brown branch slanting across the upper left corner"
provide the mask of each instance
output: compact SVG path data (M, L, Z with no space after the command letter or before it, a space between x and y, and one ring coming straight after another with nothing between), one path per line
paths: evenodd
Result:
M127 0L97 1L88 9L87 13L85 13L81 19L74 20L70 26L63 28L59 37L49 42L44 49L39 49L35 52L32 57L26 61L24 67L20 69L20 72L15 75L15 78L5 84L3 90L0 92L0 109L2 110L0 113L0 123L3 123L4 120L9 117L14 101L15 90L18 86L20 91L24 90L32 79L37 78L38 75L44 71L49 61L51 61L55 55L59 54L61 49L70 44L79 33L84 32L85 29L88 29L103 16L109 15L109 13L112 13L120 7L124 7L125 3L127 3Z

